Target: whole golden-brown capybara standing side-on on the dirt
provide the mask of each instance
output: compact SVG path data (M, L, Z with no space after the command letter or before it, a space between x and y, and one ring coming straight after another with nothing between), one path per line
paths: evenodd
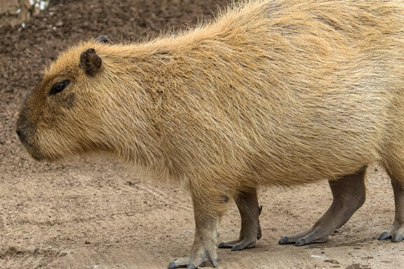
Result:
M55 160L110 152L186 183L191 253L169 268L217 265L220 217L234 198L237 240L261 237L260 185L328 180L334 201L313 228L280 244L325 240L365 200L370 163L386 168L404 237L404 2L256 0L153 41L79 43L46 69L22 106L29 153ZM292 229L292 228L291 228Z

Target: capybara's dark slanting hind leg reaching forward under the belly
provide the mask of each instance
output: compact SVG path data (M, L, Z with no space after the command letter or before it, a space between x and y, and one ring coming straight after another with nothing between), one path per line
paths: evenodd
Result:
M365 169L349 174L337 181L328 181L332 191L332 205L314 226L292 236L285 236L279 244L302 246L314 242L325 242L328 235L348 221L365 202Z

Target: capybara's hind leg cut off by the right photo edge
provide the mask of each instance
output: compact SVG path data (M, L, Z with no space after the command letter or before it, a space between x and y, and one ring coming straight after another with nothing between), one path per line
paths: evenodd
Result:
M401 242L404 239L404 168L401 165L394 167L388 164L386 170L393 186L396 215L391 230L382 233L379 240L391 239L391 242Z

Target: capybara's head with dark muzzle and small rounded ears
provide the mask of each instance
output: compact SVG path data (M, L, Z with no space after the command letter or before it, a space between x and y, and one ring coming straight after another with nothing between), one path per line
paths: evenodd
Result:
M105 74L97 53L106 46L107 38L102 36L62 53L23 104L17 134L36 160L109 149L102 139L108 129L103 114L106 102L114 102L108 91L114 88L108 79L114 74Z

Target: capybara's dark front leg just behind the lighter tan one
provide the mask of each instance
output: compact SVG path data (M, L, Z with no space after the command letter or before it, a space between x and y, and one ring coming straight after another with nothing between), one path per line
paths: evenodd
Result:
M261 238L259 216L262 207L258 206L257 189L241 191L234 198L241 216L240 236L237 240L221 242L219 248L242 250L255 247Z

